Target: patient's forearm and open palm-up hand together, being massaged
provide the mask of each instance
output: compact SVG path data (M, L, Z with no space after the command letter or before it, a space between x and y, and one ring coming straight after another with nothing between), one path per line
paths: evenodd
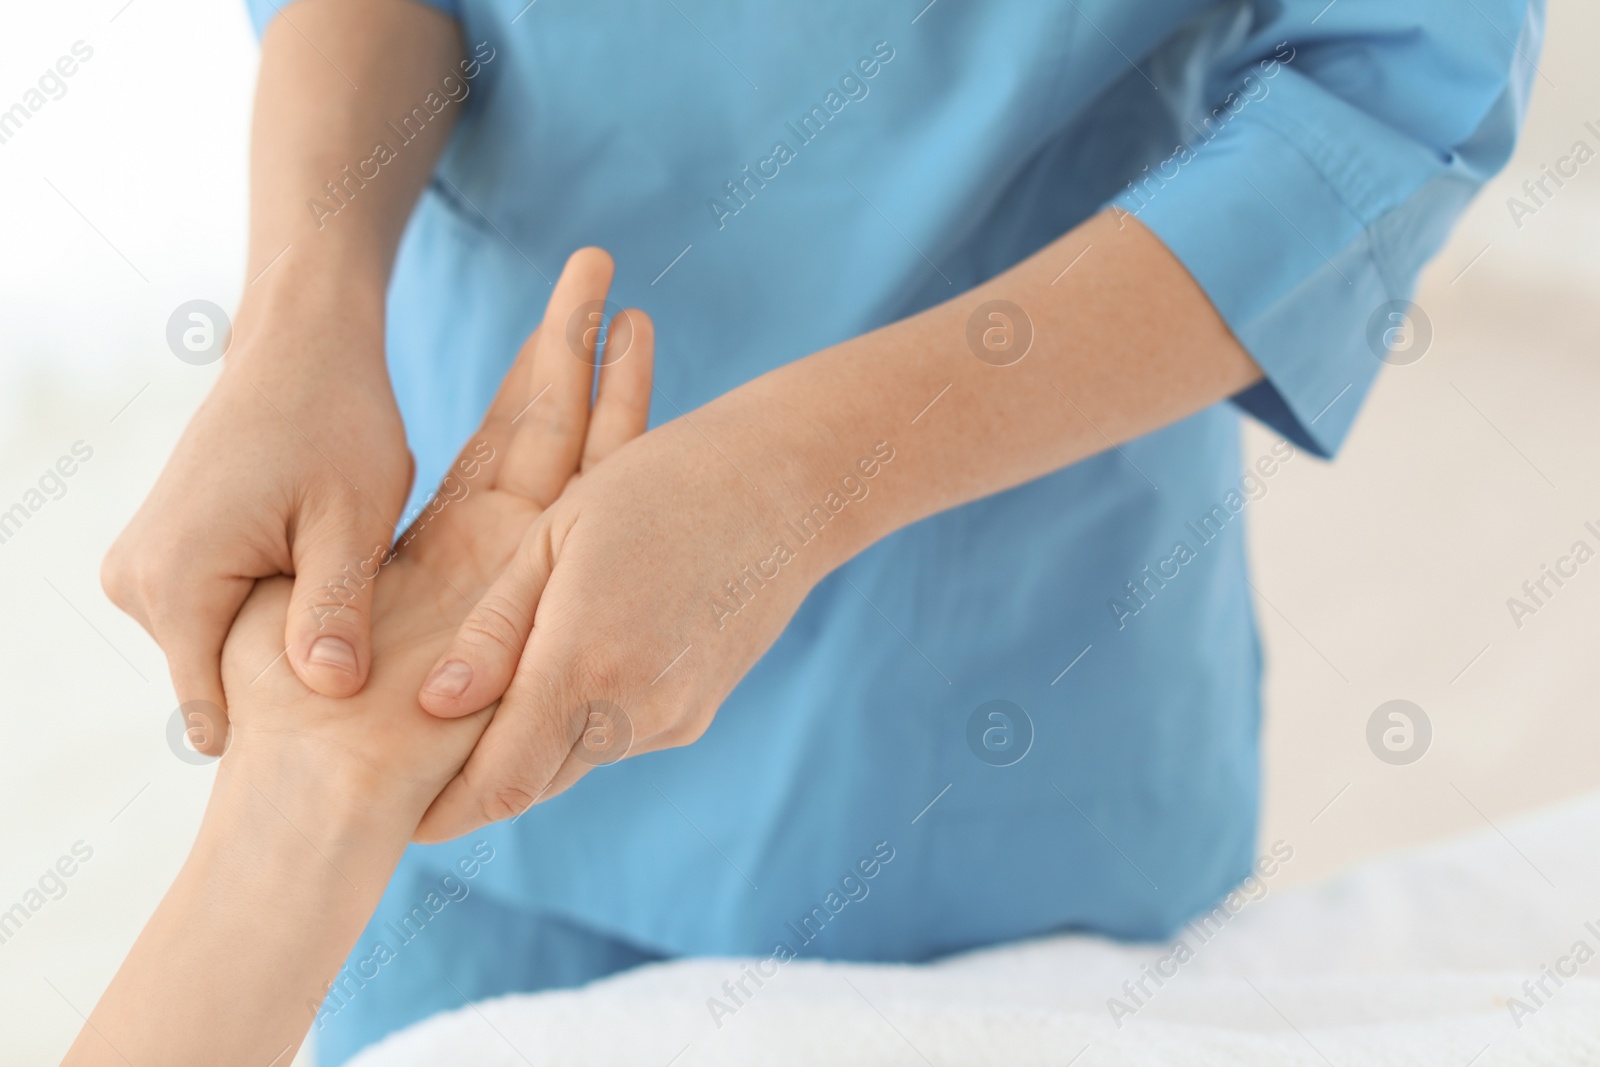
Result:
M642 312L610 331L627 357L602 371L592 418L590 366L544 339L562 336L578 304L603 299L610 278L600 250L573 256L547 314L557 328L523 346L440 486L448 502L382 566L360 694L322 696L288 669L291 582L256 582L222 649L234 734L198 838L66 1064L293 1059L307 1005L322 1000L422 813L493 713L427 715L414 697L422 675L544 504L645 429L653 333ZM546 406L555 398L562 418Z

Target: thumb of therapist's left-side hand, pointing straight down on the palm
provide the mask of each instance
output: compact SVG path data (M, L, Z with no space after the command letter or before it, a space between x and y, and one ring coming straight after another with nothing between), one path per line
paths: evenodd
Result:
M373 584L387 555L387 537L338 522L296 539L283 643L294 673L323 696L354 696L366 685Z

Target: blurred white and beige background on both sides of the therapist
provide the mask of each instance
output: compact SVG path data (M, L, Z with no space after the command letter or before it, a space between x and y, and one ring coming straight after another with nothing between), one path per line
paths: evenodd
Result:
M1386 368L1336 464L1296 459L1250 509L1283 883L1600 787L1600 561L1520 629L1506 605L1600 526L1600 160L1520 227L1506 203L1576 141L1600 147L1597 30L1590 0L1550 0L1517 157L1418 294L1432 347ZM0 910L93 849L0 944L0 1059L19 1065L64 1053L210 787L168 749L162 654L98 569L216 374L165 330L243 285L256 66L232 0L11 3L0 109L75 42L93 58L0 144L0 512L93 450L0 542ZM1248 458L1269 443L1246 429ZM1408 766L1366 744L1397 697L1434 731Z

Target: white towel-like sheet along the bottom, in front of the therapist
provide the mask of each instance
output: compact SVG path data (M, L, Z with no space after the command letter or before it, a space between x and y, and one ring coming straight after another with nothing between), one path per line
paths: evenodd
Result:
M720 1025L707 1000L731 1003L722 984L754 961L690 960L445 1013L352 1062L1600 1064L1597 845L1600 793L1318 886L1269 881L1210 941L1190 931L1192 958L1146 979L1142 1005L1123 982L1170 945L1064 936L925 966L795 961ZM1557 965L1576 976L1557 984ZM1112 997L1138 1011L1114 1019Z

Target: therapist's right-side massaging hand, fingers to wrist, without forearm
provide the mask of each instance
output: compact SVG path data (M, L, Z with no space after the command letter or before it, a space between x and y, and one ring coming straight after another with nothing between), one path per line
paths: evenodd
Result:
M530 528L421 693L440 717L504 697L418 840L515 816L598 763L698 739L811 585L870 541L862 504L824 501L864 499L893 448L837 459L790 446L803 419L734 395L618 450ZM827 528L802 542L786 520L813 504Z

